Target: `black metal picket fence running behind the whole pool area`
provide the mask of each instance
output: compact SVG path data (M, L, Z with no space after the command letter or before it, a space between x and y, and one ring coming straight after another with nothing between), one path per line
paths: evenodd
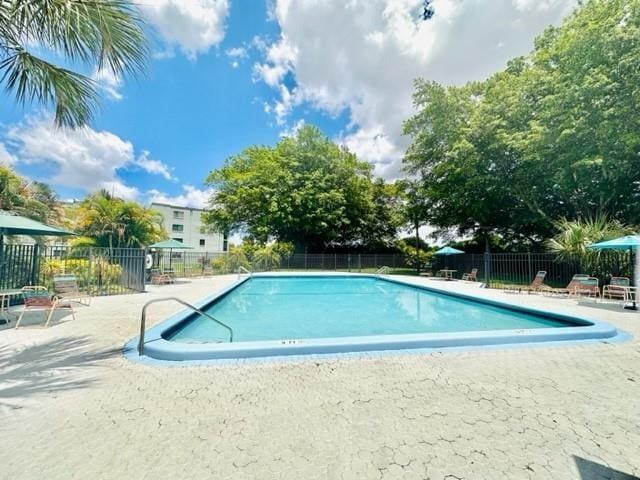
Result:
M235 272L238 265L252 271L345 271L372 273L389 267L390 273L414 274L415 267L402 254L294 254L271 264L232 262L227 253L162 251L151 255L139 248L69 248L59 246L4 244L0 251L0 289L24 285L52 286L58 273L76 275L93 295L115 295L144 291L151 268L171 270L177 277L207 276ZM435 274L448 268L454 277L477 268L477 278L490 286L528 284L536 272L547 272L545 282L564 286L576 273L585 273L606 284L611 276L632 277L628 252L601 252L587 261L560 260L550 253L461 254L434 257L422 270Z

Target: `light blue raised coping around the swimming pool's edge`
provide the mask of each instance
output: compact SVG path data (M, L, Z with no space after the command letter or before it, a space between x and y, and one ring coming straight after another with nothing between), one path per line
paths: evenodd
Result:
M315 338L295 340L269 340L237 343L181 343L165 340L163 334L187 320L192 312L181 310L145 333L144 356L140 357L135 345L138 337L125 345L125 355L131 360L157 360L180 363L202 362L208 360L234 360L264 357L309 356L325 354L345 354L364 352L385 352L398 350L442 350L454 348L483 348L507 345L540 345L563 342L618 341L626 334L612 325L580 316L566 315L548 309L522 307L513 303L488 299L467 293L451 292L427 285L415 284L391 278L386 275L340 273L340 274L303 274L303 273L262 273L238 279L217 292L195 302L196 308L202 308L225 296L252 277L359 277L376 278L403 286L431 291L441 295L462 298L485 305L506 308L511 311L530 313L538 316L582 324L576 327L539 328L518 330L487 330L444 333L419 333L400 335L376 335L361 337Z

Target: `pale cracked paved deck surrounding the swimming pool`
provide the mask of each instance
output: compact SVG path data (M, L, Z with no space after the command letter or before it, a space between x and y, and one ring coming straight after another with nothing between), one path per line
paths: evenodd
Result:
M483 290L634 337L178 368L122 357L144 302L168 294L194 301L232 280L96 298L76 321L0 331L0 478L640 476L637 313ZM152 320L178 309L156 305Z

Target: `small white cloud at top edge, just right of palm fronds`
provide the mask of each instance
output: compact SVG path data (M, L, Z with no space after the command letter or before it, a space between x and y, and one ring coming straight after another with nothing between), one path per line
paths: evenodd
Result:
M225 34L228 0L146 0L139 8L169 47L191 59L218 45ZM160 53L167 56L168 51Z

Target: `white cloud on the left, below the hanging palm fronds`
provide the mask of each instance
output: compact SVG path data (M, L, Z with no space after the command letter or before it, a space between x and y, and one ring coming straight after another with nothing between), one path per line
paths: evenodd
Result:
M172 178L167 165L150 159L147 151L136 158L132 143L111 132L89 127L59 129L49 117L31 117L25 123L11 126L6 139L20 162L49 167L52 176L46 180L54 185L85 192L104 188L123 198L135 199L139 191L124 184L118 177L119 169L140 168Z

